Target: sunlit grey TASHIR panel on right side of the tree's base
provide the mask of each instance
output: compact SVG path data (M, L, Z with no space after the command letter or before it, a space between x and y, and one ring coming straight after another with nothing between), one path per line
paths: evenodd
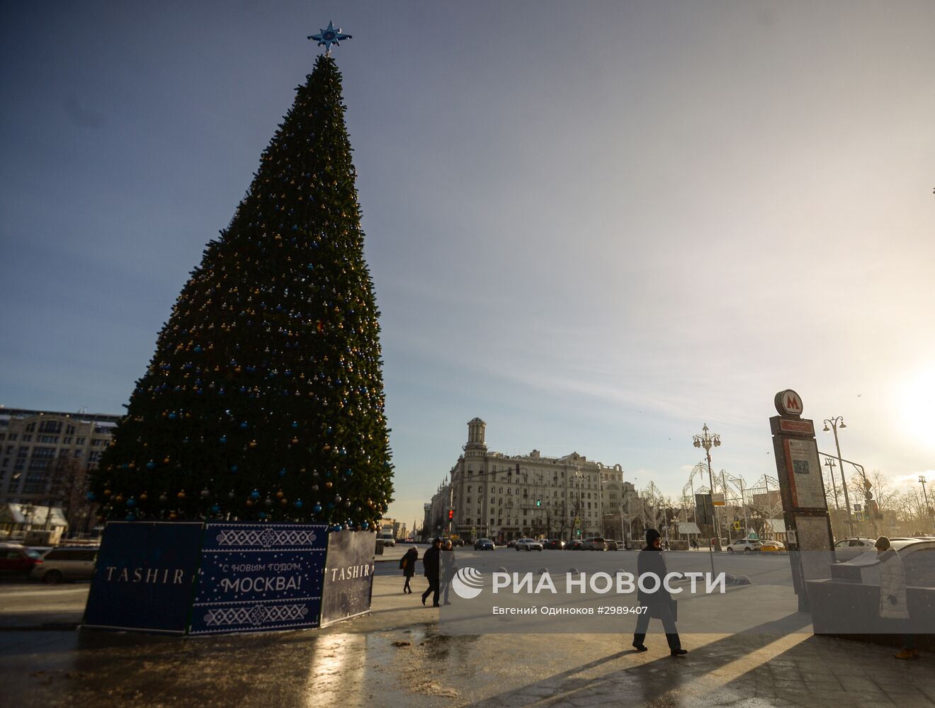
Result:
M370 610L375 545L375 534L367 531L338 531L328 537L322 627Z

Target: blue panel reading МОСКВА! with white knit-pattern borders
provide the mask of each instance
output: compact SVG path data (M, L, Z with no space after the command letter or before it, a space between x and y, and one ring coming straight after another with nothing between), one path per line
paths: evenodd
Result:
M191 634L318 627L327 527L205 526Z

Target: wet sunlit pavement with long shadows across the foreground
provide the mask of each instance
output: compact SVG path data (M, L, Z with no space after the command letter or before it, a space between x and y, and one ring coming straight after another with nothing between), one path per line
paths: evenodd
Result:
M643 654L626 631L446 636L439 610L419 601L424 578L412 595L401 586L396 574L378 573L372 613L324 630L181 639L36 630L46 620L77 622L87 586L7 583L0 697L99 708L935 706L930 654L897 661L890 648L807 633L683 635L689 654L678 659L659 634Z

